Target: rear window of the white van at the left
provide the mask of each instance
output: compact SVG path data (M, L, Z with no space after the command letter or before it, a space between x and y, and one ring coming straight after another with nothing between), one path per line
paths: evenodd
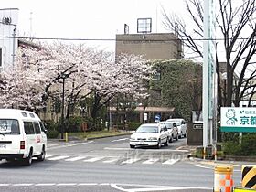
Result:
M14 119L0 119L0 133L19 134L18 121Z

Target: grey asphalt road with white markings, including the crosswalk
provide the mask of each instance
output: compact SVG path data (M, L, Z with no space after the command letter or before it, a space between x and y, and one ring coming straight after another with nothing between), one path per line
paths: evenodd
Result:
M161 149L130 149L128 136L48 141L44 162L2 161L0 191L212 191L214 170L187 159L181 139ZM235 167L235 183L240 167Z

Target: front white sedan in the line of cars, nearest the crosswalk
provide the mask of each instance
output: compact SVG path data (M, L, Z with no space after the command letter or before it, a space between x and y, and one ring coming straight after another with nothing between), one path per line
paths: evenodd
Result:
M135 146L155 146L160 148L162 144L168 145L167 129L158 123L142 124L135 133L131 135L130 147Z

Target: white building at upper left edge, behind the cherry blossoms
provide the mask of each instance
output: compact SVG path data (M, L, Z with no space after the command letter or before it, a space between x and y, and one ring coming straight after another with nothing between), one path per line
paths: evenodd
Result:
M0 9L0 71L14 64L17 49L18 9Z

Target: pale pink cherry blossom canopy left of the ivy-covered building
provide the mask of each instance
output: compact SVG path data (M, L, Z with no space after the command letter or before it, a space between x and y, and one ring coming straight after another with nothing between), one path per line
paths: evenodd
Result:
M14 68L0 74L0 105L38 110L49 100L69 106L92 99L91 117L120 93L144 97L143 80L153 72L142 56L113 54L85 45L43 44L20 48ZM64 87L64 90L62 88Z

